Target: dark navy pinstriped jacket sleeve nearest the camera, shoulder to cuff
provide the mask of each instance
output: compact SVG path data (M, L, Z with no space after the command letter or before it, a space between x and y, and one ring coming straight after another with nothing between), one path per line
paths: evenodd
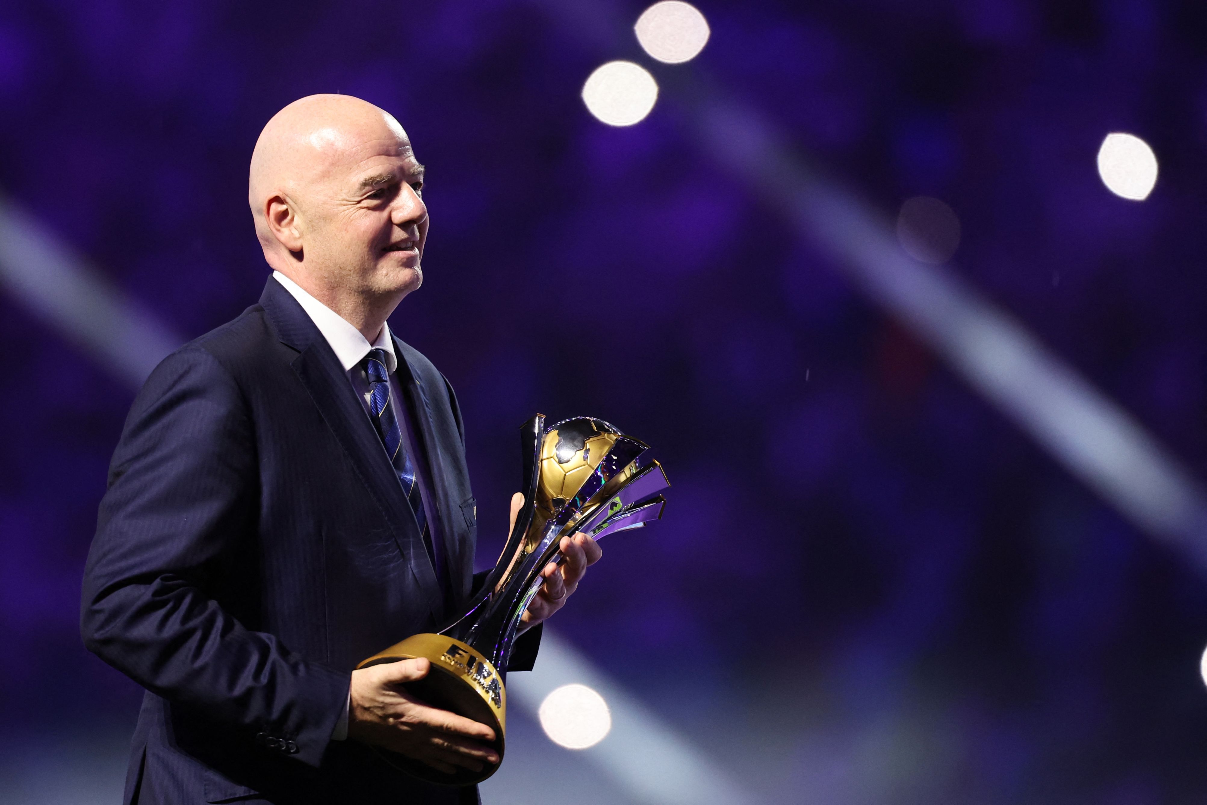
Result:
M81 631L152 693L319 765L350 675L245 628L211 597L232 556L255 555L255 444L239 387L212 355L189 346L156 368L113 454Z

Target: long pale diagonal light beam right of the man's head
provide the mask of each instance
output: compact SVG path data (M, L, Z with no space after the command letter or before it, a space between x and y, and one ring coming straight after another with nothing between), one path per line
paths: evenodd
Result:
M753 110L688 94L705 151L836 258L1066 469L1207 567L1207 496L1132 416L958 275L906 257L890 223L811 171Z

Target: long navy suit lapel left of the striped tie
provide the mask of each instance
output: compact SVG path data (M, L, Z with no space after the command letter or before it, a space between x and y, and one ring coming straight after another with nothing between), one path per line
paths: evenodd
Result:
M439 584L427 559L415 515L373 422L348 383L343 366L302 305L275 279L268 280L260 303L276 327L281 343L298 351L291 367L385 514L395 543L427 597L433 617L438 619L443 608Z

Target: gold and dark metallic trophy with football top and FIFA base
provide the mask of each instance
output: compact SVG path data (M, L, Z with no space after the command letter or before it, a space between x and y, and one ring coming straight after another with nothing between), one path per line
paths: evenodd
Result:
M564 561L562 537L600 539L661 518L670 484L649 445L625 436L601 419L579 416L549 427L537 414L520 428L524 457L524 507L495 568L465 612L438 634L414 635L374 654L357 667L425 657L426 677L407 689L427 704L486 724L491 747L503 758L507 663L520 618L543 583L541 571ZM431 782L466 786L492 775L459 769L444 774L401 754L381 756L403 771Z

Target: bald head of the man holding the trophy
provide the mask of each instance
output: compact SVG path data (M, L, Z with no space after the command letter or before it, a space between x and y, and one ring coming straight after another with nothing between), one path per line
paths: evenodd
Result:
M340 315L339 305L390 299L392 310L422 281L422 171L389 112L351 95L293 101L251 156L247 202L264 258Z

